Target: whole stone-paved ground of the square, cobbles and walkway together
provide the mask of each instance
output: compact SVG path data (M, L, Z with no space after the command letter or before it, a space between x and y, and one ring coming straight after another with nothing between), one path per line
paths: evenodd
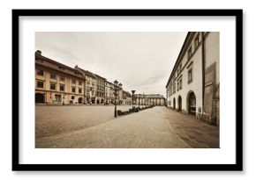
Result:
M212 145L212 138L209 137L211 133L200 136L200 131L205 133L207 130L212 131L217 128L209 126L206 129L207 124L193 117L172 112L165 107L154 107L115 119L113 108L113 106L36 106L38 136L35 139L35 147L216 148ZM120 108L130 107L119 106L118 109ZM88 114L90 118L86 116ZM56 116L61 118L56 119ZM182 119L189 124L182 125ZM189 125L196 129L192 131ZM199 126L202 128L198 128ZM217 131L213 133L215 136ZM197 143L194 142L194 138L199 138L195 140Z

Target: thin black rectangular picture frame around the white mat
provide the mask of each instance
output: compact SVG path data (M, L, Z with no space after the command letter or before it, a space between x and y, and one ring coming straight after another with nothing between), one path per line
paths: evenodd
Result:
M20 164L19 163L19 17L180 16L236 18L235 164ZM240 171L243 170L243 10L12 10L12 170L14 171Z

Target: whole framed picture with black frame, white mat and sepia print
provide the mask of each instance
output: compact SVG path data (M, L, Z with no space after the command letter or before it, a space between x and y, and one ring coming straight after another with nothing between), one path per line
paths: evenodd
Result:
M242 10L12 10L12 170L243 170L242 47Z

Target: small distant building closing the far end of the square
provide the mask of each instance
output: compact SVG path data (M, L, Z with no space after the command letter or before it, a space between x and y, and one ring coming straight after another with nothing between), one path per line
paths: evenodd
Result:
M160 94L135 94L137 105L165 105L165 98Z

